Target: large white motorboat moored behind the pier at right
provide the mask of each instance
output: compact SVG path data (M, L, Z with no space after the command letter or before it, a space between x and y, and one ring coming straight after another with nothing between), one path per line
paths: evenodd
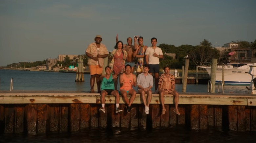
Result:
M249 65L252 64L218 64L216 70L216 84L222 81L223 66L224 68L224 84L225 85L245 85L248 86L251 83L252 76L248 73L250 70ZM211 66L200 66L204 68L211 76Z

